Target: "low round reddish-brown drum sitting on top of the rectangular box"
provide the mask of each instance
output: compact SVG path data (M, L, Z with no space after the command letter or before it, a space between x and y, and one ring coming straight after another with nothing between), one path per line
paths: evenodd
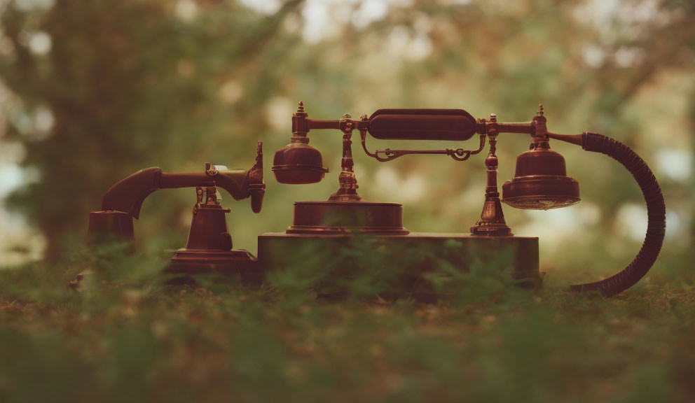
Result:
M372 201L297 201L287 234L406 235L403 206Z

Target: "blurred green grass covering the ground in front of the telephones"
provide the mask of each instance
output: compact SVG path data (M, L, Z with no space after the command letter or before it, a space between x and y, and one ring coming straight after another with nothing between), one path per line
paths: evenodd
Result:
M317 300L305 281L315 272L269 276L261 288L214 278L166 286L164 262L102 250L0 271L0 402L695 395L694 282L677 270L613 299L523 290L474 271L458 295L424 304L375 297L361 277L350 287L368 292ZM81 292L66 286L85 269Z

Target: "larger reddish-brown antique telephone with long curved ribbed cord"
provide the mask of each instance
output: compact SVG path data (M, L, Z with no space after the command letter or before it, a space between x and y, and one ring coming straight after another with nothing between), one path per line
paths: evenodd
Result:
M298 201L294 204L294 221L285 233L259 236L259 259L273 260L280 252L287 255L301 243L317 239L331 239L338 235L369 234L383 236L393 242L410 239L412 243L429 242L437 247L442 239L455 239L463 246L502 248L514 246L520 249L517 255L519 277L539 277L537 273L537 238L512 236L504 221L500 193L497 191L497 136L502 133L530 135L530 150L518 156L516 174L511 181L502 185L501 201L515 208L547 210L570 206L579 202L579 184L567 176L565 159L551 150L550 140L556 139L582 146L584 150L603 153L623 164L642 189L647 202L649 225L645 242L635 260L623 271L595 283L573 285L575 290L598 290L605 296L615 295L637 283L647 274L661 250L666 229L666 207L659 183L647 164L628 146L600 134L554 134L548 132L543 106L528 122L497 122L496 115L490 119L474 119L461 109L380 109L369 118L362 115L352 120L343 115L339 120L312 120L299 102L298 110L292 115L291 143L275 153L273 174L280 183L316 183L324 178L318 150L309 146L308 134L312 130L333 129L343 133L342 171L338 178L339 188L327 201ZM481 218L470 228L471 235L463 234L411 234L402 224L401 205L363 201L357 194L357 178L352 162L352 132L360 134L362 149L380 162L394 160L403 155L435 154L448 155L456 161L468 160L481 153L486 139L490 151L485 160L487 187ZM475 150L376 150L370 152L366 146L366 134L376 139L392 140L448 140L466 141L479 134L479 147ZM394 239L396 241L394 241ZM488 239L490 241L484 241ZM432 242L435 243L432 243ZM282 248L282 244L287 247ZM460 260L465 261L465 257ZM532 266L536 266L532 268Z

